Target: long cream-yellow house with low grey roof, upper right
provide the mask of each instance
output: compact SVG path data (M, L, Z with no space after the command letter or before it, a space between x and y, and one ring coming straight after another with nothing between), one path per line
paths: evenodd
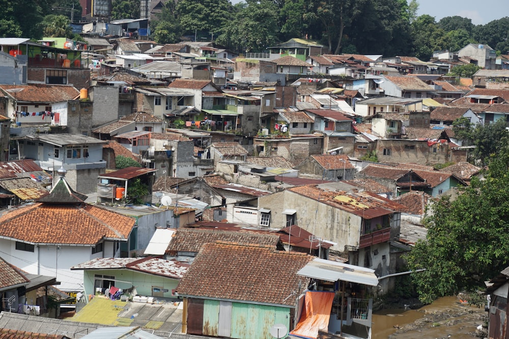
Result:
M370 116L376 113L404 113L422 111L422 100L409 98L379 97L357 101L355 114Z

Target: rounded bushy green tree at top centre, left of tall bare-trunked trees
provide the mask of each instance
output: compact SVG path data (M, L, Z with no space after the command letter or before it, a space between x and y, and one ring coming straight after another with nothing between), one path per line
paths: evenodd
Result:
M276 41L278 11L270 0L247 0L235 19L217 38L218 43L243 51L262 51Z

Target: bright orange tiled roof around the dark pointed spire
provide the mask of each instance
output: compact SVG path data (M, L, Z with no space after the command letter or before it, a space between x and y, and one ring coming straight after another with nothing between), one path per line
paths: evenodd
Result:
M0 217L0 235L32 243L88 244L127 239L135 220L89 204L35 203Z

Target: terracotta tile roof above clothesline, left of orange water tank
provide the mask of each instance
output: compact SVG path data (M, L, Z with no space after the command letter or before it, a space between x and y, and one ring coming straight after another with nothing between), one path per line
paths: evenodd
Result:
M46 85L46 84L28 84L28 85L0 85L0 89L5 94L14 98L14 93L10 89L23 88L17 91L16 101L19 102L41 102L55 103L67 100L73 100L79 95L79 90L73 86Z

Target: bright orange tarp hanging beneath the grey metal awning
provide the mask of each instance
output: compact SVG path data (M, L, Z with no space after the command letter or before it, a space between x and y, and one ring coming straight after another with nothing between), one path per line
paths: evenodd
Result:
M334 295L334 292L307 291L299 323L290 334L316 339L319 329L327 330Z

